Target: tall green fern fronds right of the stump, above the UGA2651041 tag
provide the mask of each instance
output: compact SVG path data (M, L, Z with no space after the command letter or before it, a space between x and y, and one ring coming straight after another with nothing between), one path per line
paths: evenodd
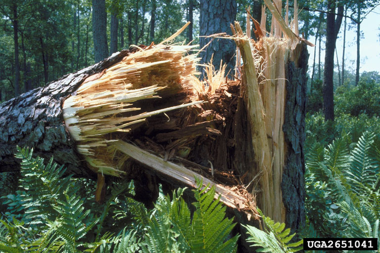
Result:
M306 211L321 237L372 237L380 219L380 134L315 145L306 158Z

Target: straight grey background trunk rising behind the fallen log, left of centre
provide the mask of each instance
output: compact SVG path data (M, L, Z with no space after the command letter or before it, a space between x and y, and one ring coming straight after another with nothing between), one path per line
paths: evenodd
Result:
M93 36L95 62L99 62L108 57L105 0L93 0Z

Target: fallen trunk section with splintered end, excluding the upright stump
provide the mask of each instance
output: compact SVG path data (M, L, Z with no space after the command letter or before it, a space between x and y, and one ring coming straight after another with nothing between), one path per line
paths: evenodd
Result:
M223 116L202 109L194 93L193 85L202 89L203 84L193 76L196 55L184 56L192 47L151 44L133 54L122 51L3 103L1 172L19 169L15 147L29 146L76 176L97 177L98 201L105 195L104 175L134 179L136 199L149 207L158 197L159 178L192 187L199 178L205 186L215 184L215 197L227 206L248 219L258 217L254 200L231 171L214 173L211 162L210 169L186 159L198 137L210 141L224 124Z

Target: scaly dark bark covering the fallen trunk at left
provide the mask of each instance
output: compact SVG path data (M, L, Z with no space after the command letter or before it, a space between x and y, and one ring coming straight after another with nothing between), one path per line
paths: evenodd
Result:
M14 157L16 145L34 149L34 154L67 167L77 176L94 177L76 152L75 142L65 128L61 104L83 81L109 68L129 53L113 54L93 66L66 75L0 104L0 172L19 170Z

